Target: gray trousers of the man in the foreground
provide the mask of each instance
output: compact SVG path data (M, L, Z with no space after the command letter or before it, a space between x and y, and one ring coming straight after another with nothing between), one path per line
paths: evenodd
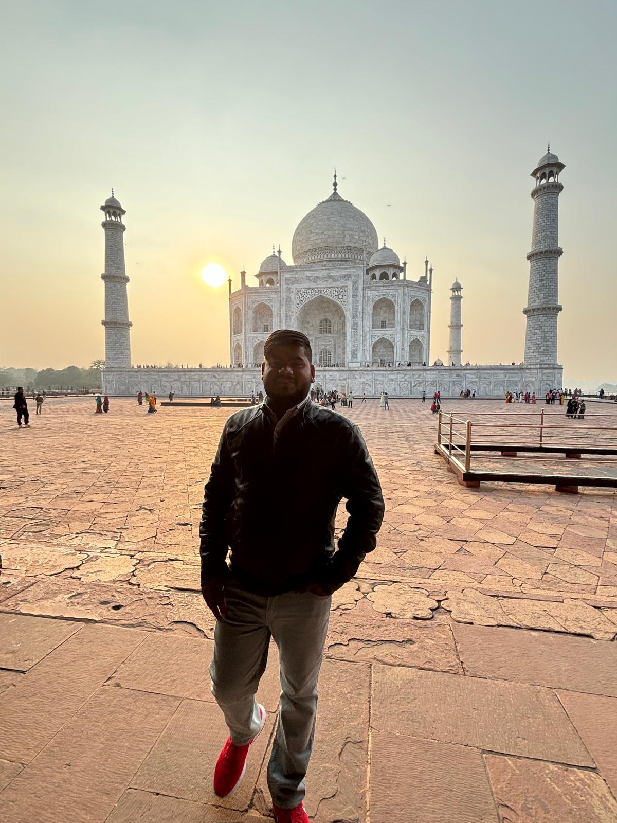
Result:
M216 621L212 694L237 746L259 730L255 693L273 638L281 662L279 722L267 769L276 806L293 808L304 798L304 777L313 750L317 681L332 597L288 592L262 597L225 585L227 616Z

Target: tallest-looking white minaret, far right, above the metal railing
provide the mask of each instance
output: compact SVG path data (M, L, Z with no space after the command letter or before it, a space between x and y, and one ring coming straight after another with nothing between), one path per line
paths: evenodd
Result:
M548 151L531 172L536 188L531 192L534 200L533 231L529 260L529 293L525 334L525 365L557 363L557 315L561 311L558 302L557 267L564 253L559 249L559 194L564 186L559 183L559 172L565 165L559 157Z

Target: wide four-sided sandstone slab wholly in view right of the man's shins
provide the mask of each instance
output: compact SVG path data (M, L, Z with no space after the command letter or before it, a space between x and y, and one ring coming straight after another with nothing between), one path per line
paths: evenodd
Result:
M504 754L595 765L556 695L541 686L373 666L371 726Z

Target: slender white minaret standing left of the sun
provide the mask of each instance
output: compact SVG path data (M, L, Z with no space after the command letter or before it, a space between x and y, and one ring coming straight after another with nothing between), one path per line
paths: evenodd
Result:
M105 368L130 369L132 323L128 319L128 277L124 269L126 226L122 221L127 212L114 198L113 188L100 211L105 216L100 224L105 233L105 270L100 276L105 284L105 319L101 321L105 327Z

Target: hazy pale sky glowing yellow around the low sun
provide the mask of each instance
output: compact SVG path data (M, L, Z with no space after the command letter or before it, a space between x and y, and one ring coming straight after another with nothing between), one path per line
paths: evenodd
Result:
M522 359L533 202L551 150L559 360L617 381L613 0L5 3L0 365L104 356L100 204L127 210L133 362L229 361L239 286L332 192L419 277L431 356L463 291L463 360ZM345 179L342 179L345 178ZM389 206L387 204L390 204Z

